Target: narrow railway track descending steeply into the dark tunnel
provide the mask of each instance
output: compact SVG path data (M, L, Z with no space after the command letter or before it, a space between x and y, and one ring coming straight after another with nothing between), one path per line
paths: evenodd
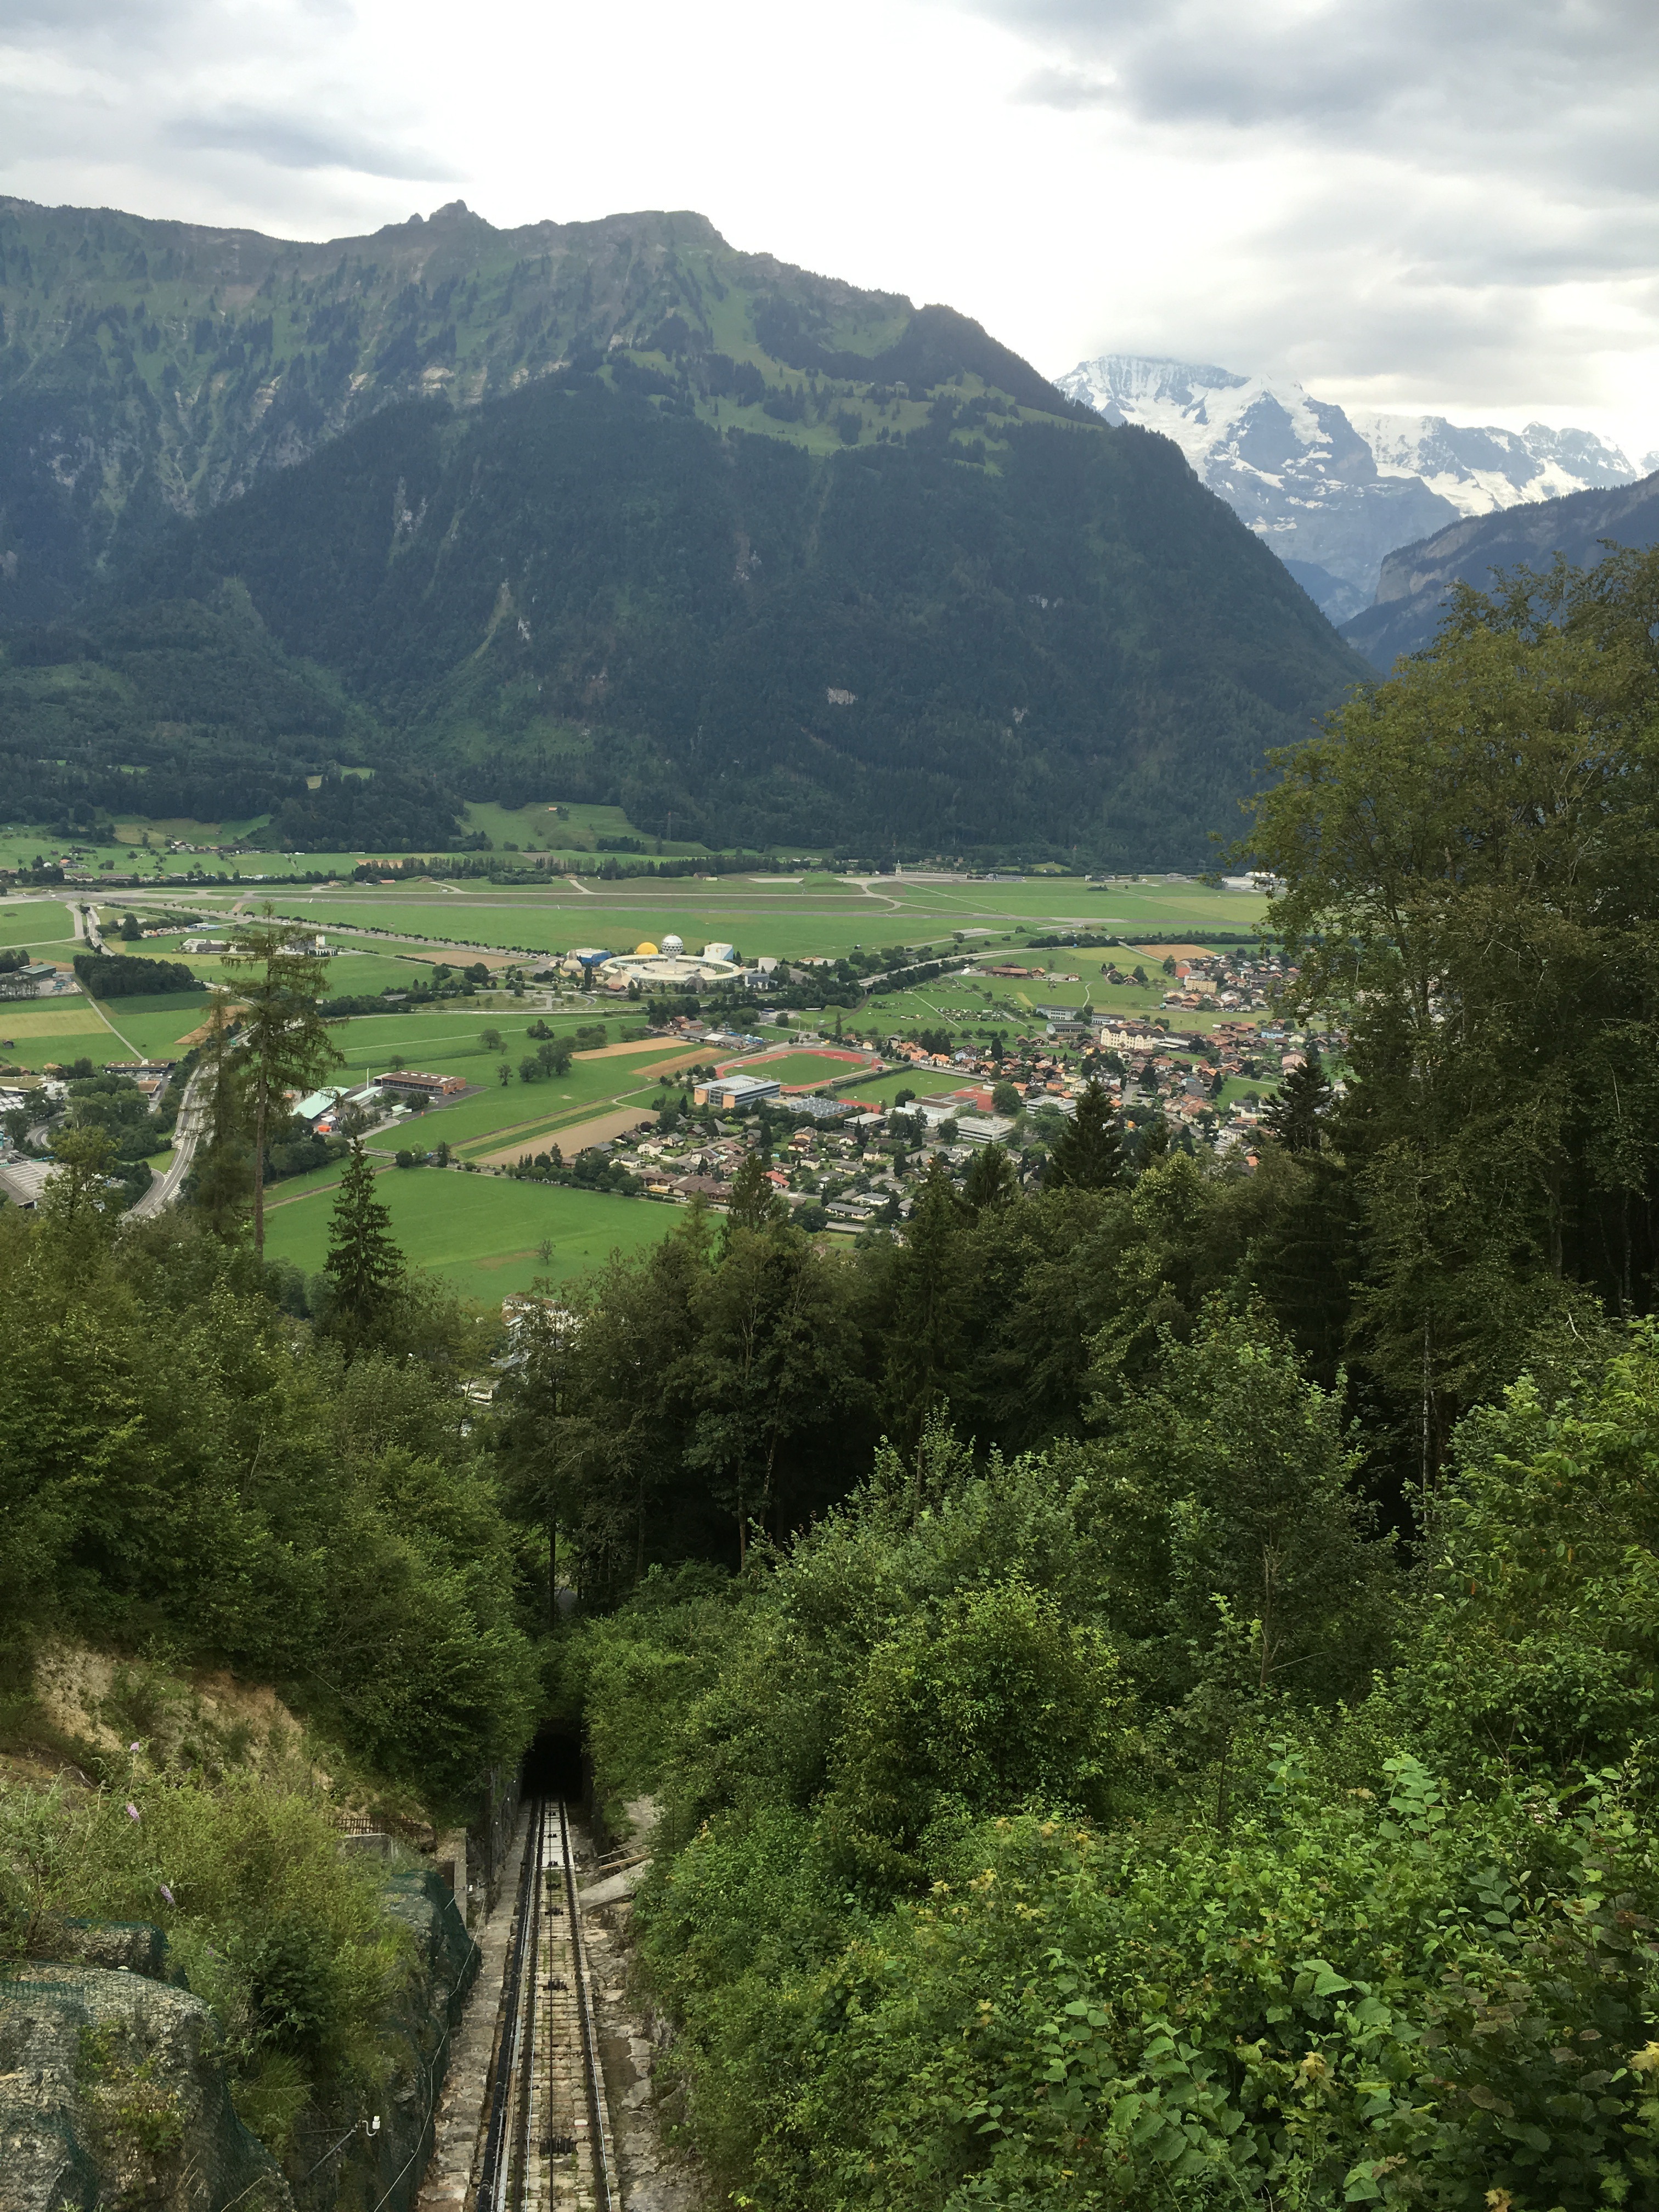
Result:
M471 2212L624 2212L571 1816L531 1805Z

